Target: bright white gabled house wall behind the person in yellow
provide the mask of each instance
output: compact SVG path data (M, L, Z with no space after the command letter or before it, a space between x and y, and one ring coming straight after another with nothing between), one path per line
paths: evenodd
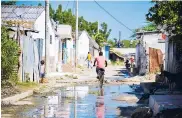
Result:
M82 32L79 36L78 42L78 63L83 65L85 64L85 59L89 52L89 37L87 36L87 32Z

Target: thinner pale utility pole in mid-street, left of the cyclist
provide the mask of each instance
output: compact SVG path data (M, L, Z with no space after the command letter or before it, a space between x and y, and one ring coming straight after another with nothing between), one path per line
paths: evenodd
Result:
M78 61L78 0L76 0L75 72Z

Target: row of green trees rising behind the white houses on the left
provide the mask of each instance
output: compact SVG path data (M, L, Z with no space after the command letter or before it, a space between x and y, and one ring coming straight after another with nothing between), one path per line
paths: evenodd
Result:
M50 16L52 15L50 14ZM63 11L62 5L58 6L56 12L54 13L53 19L55 21L59 21L60 24L71 25L73 31L75 31L76 29L76 16L72 14L71 9ZM87 31L91 37L93 37L97 42L99 42L100 46L103 45L102 43L107 41L111 33L111 29L108 29L107 24L104 22L101 24L101 29L99 30L98 34L98 22L88 22L83 18L83 16L78 18L78 29L79 31Z

